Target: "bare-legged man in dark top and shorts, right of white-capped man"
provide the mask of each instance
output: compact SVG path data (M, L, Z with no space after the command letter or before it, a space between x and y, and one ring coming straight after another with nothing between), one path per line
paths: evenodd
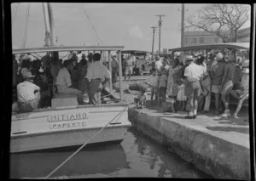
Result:
M230 116L230 109L229 109L229 99L230 92L233 88L233 78L236 71L236 57L234 54L229 54L226 59L227 64L224 67L224 76L221 82L221 100L224 103L224 113L221 116L227 117Z

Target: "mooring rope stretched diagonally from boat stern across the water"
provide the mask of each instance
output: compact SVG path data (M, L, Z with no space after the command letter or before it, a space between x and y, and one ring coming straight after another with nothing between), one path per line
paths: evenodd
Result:
M95 135L93 135L90 139L88 139L82 146L79 147L78 150L76 150L71 156L68 156L67 159L65 161L63 161L58 167L56 167L53 171L51 171L46 177L44 178L49 178L52 174L54 174L57 170L59 170L67 161L69 161L73 156L75 156L80 150L82 150L84 148L84 146L86 144L88 144L90 142L90 140L94 139L96 137L96 135L98 135L99 133L102 132L102 130L105 128L105 127L108 127L108 124L110 124L111 122L113 122L113 120L115 120L116 117L118 117L119 115L122 115L124 114L126 108L128 106L125 106L125 109L121 110L119 112L119 114L117 114L116 116L113 117L113 119L108 122L104 127L102 127L102 129L100 129ZM119 116L120 117L120 116Z

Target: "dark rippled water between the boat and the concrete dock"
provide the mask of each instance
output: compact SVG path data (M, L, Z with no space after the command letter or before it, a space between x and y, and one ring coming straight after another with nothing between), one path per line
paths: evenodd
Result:
M12 155L10 178L45 177L72 153L69 150ZM165 147L138 133L135 127L128 129L121 144L81 150L52 177L209 178Z

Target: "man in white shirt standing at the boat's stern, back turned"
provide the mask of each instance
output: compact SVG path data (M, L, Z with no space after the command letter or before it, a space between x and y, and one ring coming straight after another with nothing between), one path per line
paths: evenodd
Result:
M94 63L90 65L86 76L90 82L88 95L93 104L101 104L102 82L111 76L107 67L102 65L100 60L101 54L93 54Z

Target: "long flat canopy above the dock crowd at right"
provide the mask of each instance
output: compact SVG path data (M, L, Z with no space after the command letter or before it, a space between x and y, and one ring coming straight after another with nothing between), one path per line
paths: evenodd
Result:
M172 52L182 52L190 51L196 49L214 49L214 48L236 48L236 49L250 49L249 42L229 42L229 43L214 43L214 44L204 44L204 45L195 45L183 48L171 48L169 49Z

